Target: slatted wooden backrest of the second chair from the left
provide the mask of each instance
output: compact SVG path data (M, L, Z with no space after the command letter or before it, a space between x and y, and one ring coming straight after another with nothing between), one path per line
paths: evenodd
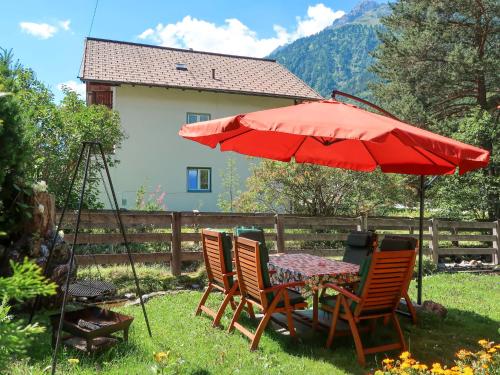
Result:
M259 243L243 237L234 238L234 256L238 272L238 283L242 295L252 298L262 304L264 289Z

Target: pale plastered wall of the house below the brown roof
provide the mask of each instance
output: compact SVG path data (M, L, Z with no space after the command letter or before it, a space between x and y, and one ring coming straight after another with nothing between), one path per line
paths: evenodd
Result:
M227 159L236 160L241 184L249 175L249 159L233 152L222 153L177 134L187 112L210 113L211 118L293 104L292 99L199 92L140 86L115 88L114 109L120 113L128 138L117 151L120 164L111 175L119 204L135 208L141 185L147 192L160 186L166 192L168 210L218 211L221 171ZM212 168L212 191L187 192L187 167ZM102 194L103 202L107 202Z

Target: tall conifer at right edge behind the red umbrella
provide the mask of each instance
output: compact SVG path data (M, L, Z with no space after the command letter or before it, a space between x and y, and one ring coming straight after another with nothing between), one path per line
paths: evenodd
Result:
M435 203L443 212L467 216L471 212L465 212L466 206L474 201L464 201L462 193L475 189L477 193L467 194L472 199L484 190L486 206L482 214L474 216L498 218L495 202L500 197L495 186L500 173L500 139L494 112L500 99L500 3L399 0L391 7L392 14L382 20L385 28L379 32L381 44L374 52L372 71L380 79L371 85L374 96L408 122L490 150L488 168L474 172L481 176L440 179L442 187L436 191L456 194L447 198L441 194ZM489 116L486 122L485 116ZM466 129L484 126L487 136L474 137ZM432 199L432 190L430 193ZM450 211L452 206L455 209Z

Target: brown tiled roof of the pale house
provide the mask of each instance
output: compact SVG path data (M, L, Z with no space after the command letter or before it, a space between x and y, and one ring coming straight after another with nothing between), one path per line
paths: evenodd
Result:
M187 70L176 69L185 64ZM215 69L215 79L212 78ZM80 79L223 91L250 95L322 99L275 60L87 38Z

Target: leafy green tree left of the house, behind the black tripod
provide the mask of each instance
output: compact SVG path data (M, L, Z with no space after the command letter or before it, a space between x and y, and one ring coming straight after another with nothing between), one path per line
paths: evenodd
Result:
M115 149L125 135L117 112L105 106L86 106L78 95L68 88L59 105L52 92L37 79L36 74L19 63L10 64L13 92L19 101L20 115L25 124L25 143L31 162L26 165L26 176L33 181L46 181L49 192L56 197L56 205L64 204L71 175L76 167L83 141L99 140L103 144L110 167L119 161ZM70 206L75 207L83 181L83 168L79 174ZM85 194L86 208L102 207L99 201L100 173L92 168Z

